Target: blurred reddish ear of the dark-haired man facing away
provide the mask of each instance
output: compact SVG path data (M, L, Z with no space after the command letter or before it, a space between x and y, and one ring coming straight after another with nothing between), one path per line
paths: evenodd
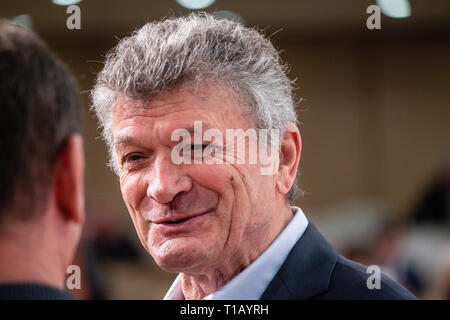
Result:
M84 151L80 134L72 134L53 168L56 205L64 219L84 223Z

